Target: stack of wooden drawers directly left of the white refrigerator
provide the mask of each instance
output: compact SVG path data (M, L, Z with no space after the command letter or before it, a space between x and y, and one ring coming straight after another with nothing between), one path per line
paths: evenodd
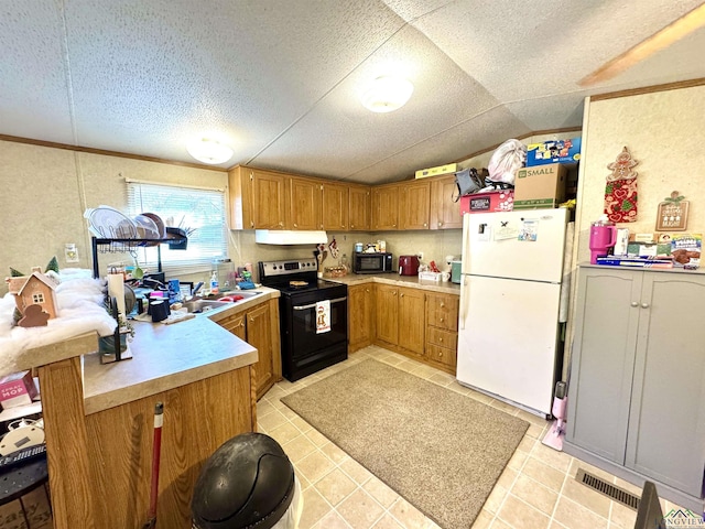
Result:
M458 345L459 296L426 294L426 358L455 375Z

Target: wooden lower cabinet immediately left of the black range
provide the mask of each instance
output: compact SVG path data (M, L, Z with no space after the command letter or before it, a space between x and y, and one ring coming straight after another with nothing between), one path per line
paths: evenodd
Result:
M252 309L218 321L218 325L257 348L254 367L257 399L282 379L279 301L269 300Z

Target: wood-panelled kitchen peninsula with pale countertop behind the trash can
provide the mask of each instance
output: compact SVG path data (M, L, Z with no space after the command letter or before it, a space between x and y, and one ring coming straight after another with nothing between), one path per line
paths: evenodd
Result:
M256 429L254 347L203 316L134 327L132 359L101 365L96 333L18 359L39 370L56 529L147 521L156 402L164 403L161 527L191 527L202 464Z

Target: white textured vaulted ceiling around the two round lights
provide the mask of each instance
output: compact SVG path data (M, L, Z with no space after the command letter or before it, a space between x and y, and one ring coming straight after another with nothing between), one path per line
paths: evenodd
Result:
M532 131L579 128L585 96L705 77L705 29L578 82L701 0L3 0L0 134L383 183ZM415 89L389 114L367 82Z

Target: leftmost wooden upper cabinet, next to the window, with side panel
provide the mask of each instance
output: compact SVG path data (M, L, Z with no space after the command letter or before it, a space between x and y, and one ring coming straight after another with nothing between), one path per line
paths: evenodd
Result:
M238 165L228 172L230 228L284 229L288 176Z

